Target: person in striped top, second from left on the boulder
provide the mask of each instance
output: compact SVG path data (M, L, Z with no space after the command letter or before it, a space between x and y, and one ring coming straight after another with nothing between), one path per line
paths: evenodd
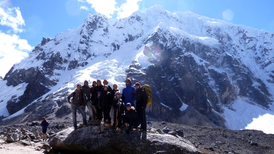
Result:
M92 103L90 101L91 87L89 85L89 81L85 80L84 85L82 86L82 91L86 94L87 102L86 106L84 106L84 110L86 111L86 107L89 109L89 121L93 119L93 111L92 111Z

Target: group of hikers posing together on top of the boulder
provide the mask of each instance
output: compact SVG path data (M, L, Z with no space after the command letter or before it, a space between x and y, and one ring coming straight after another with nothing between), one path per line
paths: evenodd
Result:
M68 95L68 103L72 109L74 131L77 130L76 111L83 117L83 126L87 126L86 107L89 110L89 122L111 125L111 109L113 110L113 128L122 128L129 133L130 129L146 132L146 91L137 82L132 86L130 78L126 79L126 87L121 92L117 84L113 88L105 79L103 84L100 79L89 85L87 80L84 85L77 84L76 90ZM71 101L72 98L72 101ZM139 126L141 125L141 127Z

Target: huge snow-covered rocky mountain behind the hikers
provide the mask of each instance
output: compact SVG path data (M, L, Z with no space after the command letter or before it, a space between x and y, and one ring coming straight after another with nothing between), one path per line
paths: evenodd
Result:
M253 123L274 115L273 36L159 5L120 20L88 15L0 80L1 124L65 117L76 84L108 79L122 90L131 77L151 86L147 115L158 121L274 133Z

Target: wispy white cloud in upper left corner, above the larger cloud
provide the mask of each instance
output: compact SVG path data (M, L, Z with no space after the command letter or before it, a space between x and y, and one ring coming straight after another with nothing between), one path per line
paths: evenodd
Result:
M24 31L22 26L25 26L25 21L18 7L4 10L0 5L0 20L2 26L11 27L14 33L21 33Z

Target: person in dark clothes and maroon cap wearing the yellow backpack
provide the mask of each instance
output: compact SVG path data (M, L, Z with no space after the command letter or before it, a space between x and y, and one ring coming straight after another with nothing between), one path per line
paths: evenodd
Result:
M136 112L141 123L140 130L146 132L146 103L147 95L144 88L137 82L136 88Z

